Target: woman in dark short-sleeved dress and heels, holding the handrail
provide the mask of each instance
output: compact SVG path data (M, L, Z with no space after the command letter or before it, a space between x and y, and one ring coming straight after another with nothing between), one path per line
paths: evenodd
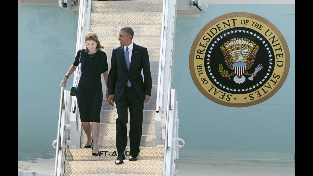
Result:
M107 87L108 62L106 53L101 51L104 47L100 45L95 32L88 32L85 35L85 44L85 49L77 52L74 63L69 67L60 86L64 85L65 87L67 79L79 65L80 52L82 52L80 58L81 76L76 92L77 105L80 112L80 121L87 136L85 148L92 148L92 155L98 156L100 111L103 100L101 74ZM105 100L107 96L108 89L105 91Z

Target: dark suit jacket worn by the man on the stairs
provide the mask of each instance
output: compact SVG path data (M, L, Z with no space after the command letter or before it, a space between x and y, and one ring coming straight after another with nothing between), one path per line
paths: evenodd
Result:
M111 69L108 75L108 95L114 95L114 101L121 98L128 79L142 101L145 100L145 95L151 96L152 79L148 50L135 43L129 70L126 66L124 46L119 46L112 51Z

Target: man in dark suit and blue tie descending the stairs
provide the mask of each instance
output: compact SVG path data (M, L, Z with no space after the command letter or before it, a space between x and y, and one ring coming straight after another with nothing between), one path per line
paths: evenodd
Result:
M121 164L125 160L127 108L130 112L129 160L137 160L142 133L143 103L148 102L151 96L152 80L148 50L134 44L133 36L132 28L121 28L118 38L121 46L112 51L111 69L108 75L108 101L112 106L115 102L118 114L115 121L118 152L115 164Z

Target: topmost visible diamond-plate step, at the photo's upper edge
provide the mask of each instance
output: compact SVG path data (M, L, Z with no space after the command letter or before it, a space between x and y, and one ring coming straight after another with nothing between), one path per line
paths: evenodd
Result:
M93 1L91 9L94 13L162 12L162 6L163 1Z

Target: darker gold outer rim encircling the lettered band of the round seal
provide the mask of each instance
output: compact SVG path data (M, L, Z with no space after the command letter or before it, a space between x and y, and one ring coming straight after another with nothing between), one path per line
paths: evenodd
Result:
M223 21L224 19L227 18L234 18L234 17L245 17L245 18L252 18L252 19L256 19L262 23L264 23L265 25L267 25L272 31L275 32L275 34L277 35L277 37L280 39L281 41L281 45L284 48L284 56L285 56L285 70L284 73L281 75L281 80L279 81L279 83L275 86L275 88L269 92L269 94L259 98L258 100L255 101L250 101L250 102L246 102L246 103L229 103L226 101L222 101L217 99L216 97L210 95L203 87L202 85L199 83L196 72L194 70L194 53L196 51L196 48L198 46L198 42L200 41L200 39L202 38L203 34L205 34L205 32L213 27L214 24ZM275 63L276 63L276 58L275 58ZM281 86L284 84L288 72L289 72L289 68L290 68L290 54L289 54L289 48L288 45L286 43L286 40L284 38L284 36L280 33L280 31L278 30L278 28L275 27L274 24L272 24L271 22L269 22L267 19L260 17L259 15L255 15L253 13L247 13L247 12L233 12L233 13L227 13L224 15L221 15L217 18L214 18L213 20L211 20L209 23L207 23L197 34L196 38L193 40L192 43L192 47L190 49L190 53L189 53L189 71L190 71L190 75L192 77L192 81L193 83L196 85L197 89L205 96L207 97L209 100L218 103L220 105L223 106L229 106L229 107L247 107L247 106L252 106L252 105L256 105L259 104L267 99L269 99L270 97L272 97L280 88Z

